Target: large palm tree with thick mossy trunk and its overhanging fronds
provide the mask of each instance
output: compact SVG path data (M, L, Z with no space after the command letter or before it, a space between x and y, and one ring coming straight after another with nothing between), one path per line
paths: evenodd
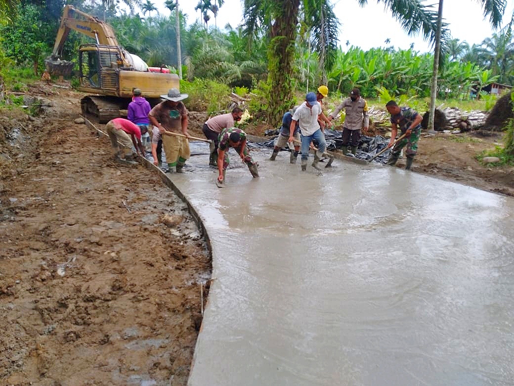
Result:
M368 0L357 0L364 6ZM425 38L434 40L436 14L426 7L421 0L378 0L386 5L393 16L400 21L401 26L409 34L421 32ZM268 45L268 83L269 93L268 121L276 122L283 112L289 108L292 102L291 76L293 73L292 62L295 53L295 41L297 27L300 20L300 10L307 16L313 16L310 10L325 10L331 7L330 0L245 0L244 15L246 21L246 33L249 36L258 37L257 30L266 31L269 37ZM333 13L332 13L333 15ZM335 15L328 12L323 17L334 17L327 25L337 25ZM316 19L305 18L305 23ZM320 27L318 25L318 27ZM312 29L315 30L314 28ZM319 37L319 35L318 35ZM321 40L321 38L318 38ZM328 41L325 40L325 43ZM319 46L317 46L319 48ZM322 52L318 52L318 55ZM321 57L322 55L320 55Z

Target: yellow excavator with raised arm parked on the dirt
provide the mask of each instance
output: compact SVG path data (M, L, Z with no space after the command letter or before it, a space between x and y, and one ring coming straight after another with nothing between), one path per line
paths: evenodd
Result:
M92 94L81 100L83 114L96 116L100 123L105 123L119 117L120 110L126 110L136 87L152 106L168 90L179 90L176 74L170 74L167 68L149 67L119 45L111 26L71 5L64 7L56 43L45 60L50 75L69 76L75 66L74 62L61 60L71 30L95 40L79 47L79 91Z

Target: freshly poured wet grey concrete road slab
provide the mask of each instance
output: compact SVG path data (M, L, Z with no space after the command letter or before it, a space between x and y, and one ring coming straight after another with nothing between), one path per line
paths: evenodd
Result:
M512 198L269 154L171 175L212 243L191 386L514 384Z

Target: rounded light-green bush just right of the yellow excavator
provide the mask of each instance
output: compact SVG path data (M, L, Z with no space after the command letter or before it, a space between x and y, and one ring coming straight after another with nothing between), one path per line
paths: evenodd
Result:
M230 89L226 84L211 79L196 78L191 82L181 80L180 92L188 94L184 102L191 111L224 111L230 106Z

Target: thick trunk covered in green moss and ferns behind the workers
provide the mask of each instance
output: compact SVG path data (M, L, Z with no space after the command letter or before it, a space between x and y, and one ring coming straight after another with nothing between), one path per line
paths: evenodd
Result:
M271 42L268 47L268 122L280 121L292 103L292 64L300 0L280 0L280 3L283 12L271 26Z

